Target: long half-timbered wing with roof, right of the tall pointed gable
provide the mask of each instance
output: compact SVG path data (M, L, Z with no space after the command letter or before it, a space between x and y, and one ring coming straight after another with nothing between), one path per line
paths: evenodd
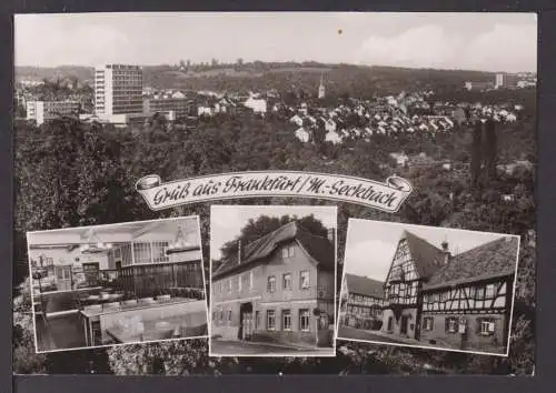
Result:
M450 258L423 286L420 340L459 350L507 347L519 240L507 236Z

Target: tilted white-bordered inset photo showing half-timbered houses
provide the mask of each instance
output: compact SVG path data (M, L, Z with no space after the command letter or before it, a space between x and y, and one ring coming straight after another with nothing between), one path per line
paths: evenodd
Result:
M338 340L507 356L519 236L350 219Z

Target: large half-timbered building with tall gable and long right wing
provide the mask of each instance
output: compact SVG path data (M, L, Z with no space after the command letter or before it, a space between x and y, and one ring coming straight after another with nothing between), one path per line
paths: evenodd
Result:
M405 231L385 284L383 332L458 350L503 352L519 241L451 255Z

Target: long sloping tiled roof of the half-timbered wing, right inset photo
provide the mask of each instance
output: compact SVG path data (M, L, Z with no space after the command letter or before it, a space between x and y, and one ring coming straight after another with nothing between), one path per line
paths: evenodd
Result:
M504 236L450 258L424 285L435 289L515 274L519 240Z

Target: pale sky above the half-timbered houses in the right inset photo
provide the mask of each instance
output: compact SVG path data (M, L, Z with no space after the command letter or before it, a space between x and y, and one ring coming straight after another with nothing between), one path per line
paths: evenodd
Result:
M488 243L505 234L350 219L344 269L346 273L385 281L404 230L441 249L448 242L451 254Z

